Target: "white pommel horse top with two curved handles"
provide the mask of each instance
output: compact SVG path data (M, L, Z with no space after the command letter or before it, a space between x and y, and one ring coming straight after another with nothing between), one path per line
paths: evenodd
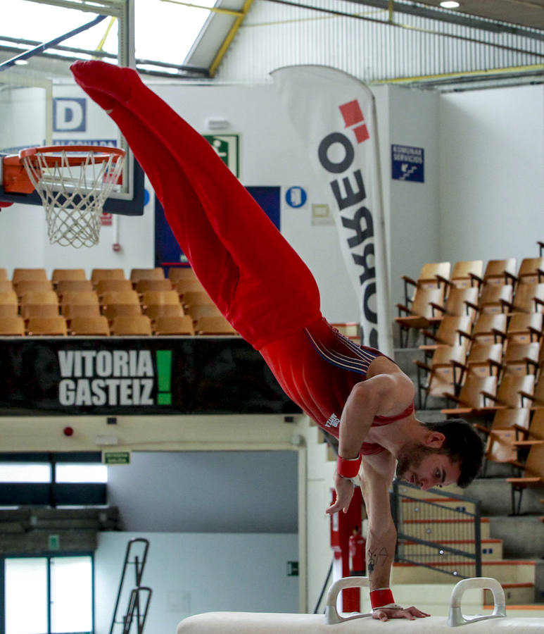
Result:
M423 619L390 619L386 623L372 619L372 614L341 616L336 599L343 588L365 587L368 577L346 577L336 581L327 594L327 608L322 614L276 614L264 612L206 612L184 619L177 634L415 634L502 632L511 634L544 633L544 619L506 616L505 592L497 580L488 577L463 579L453 588L448 617L426 616ZM493 592L493 614L464 616L461 598L465 590L488 588ZM459 629L461 628L461 629Z

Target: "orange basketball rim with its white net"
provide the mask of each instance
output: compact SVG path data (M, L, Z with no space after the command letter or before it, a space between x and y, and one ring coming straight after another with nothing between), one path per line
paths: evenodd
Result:
M51 244L93 247L103 204L120 184L125 150L93 145L31 147L19 152L42 199Z

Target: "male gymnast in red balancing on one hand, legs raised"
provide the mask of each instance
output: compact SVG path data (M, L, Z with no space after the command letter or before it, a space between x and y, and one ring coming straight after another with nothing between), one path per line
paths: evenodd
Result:
M293 402L339 439L336 501L327 513L348 510L358 476L369 518L374 619L429 616L393 601L396 529L388 490L395 475L423 490L466 487L483 456L472 425L417 420L407 375L378 350L331 328L305 263L210 144L136 71L101 61L76 62L71 69L125 135L179 246L220 311L260 352Z

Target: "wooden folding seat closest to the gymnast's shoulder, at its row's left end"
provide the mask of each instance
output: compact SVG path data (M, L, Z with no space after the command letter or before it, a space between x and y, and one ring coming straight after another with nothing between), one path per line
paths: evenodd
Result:
M426 409L429 397L443 398L459 392L466 354L465 346L441 346L436 348L429 363L415 359L419 409Z

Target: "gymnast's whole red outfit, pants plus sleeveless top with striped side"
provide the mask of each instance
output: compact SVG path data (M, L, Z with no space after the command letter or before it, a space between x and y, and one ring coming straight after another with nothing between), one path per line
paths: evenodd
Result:
M72 72L125 135L215 304L260 351L293 402L338 437L353 385L381 353L358 347L322 318L305 263L210 144L134 70L90 61L75 63ZM373 424L409 413L377 417ZM362 445L363 453L382 450Z

